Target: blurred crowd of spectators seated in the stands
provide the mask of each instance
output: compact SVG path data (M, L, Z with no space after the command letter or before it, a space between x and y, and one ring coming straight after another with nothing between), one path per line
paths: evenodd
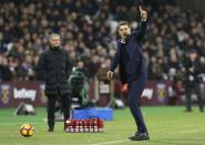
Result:
M197 11L172 4L148 11L143 41L150 80L173 80L191 49L205 63L205 18ZM132 0L18 0L0 4L0 80L35 80L40 54L49 49L48 37L60 33L74 66L93 79L109 69L116 50L116 25L121 20L140 25Z

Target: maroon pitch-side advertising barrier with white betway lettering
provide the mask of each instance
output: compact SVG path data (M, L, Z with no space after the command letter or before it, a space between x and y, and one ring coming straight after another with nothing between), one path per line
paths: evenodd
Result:
M96 100L99 106L106 106L110 101L110 84L100 83L98 87L94 81L89 82L90 100ZM142 94L142 105L167 105L182 104L183 93L173 91L171 81L148 81ZM47 96L44 94L44 83L42 82L1 82L0 83L0 107L16 107L20 103L30 103L34 106L45 106ZM204 96L205 85L202 84ZM98 90L98 91L96 91ZM126 86L114 81L114 97L122 99L126 104ZM96 92L99 96L96 99ZM193 96L194 100L194 96Z

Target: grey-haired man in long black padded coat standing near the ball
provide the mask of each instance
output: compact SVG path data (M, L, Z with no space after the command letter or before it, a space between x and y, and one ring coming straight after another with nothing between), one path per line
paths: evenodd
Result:
M64 115L64 122L70 117L70 86L69 76L72 71L69 52L61 48L59 34L49 38L50 49L40 56L37 68L39 80L45 81L45 95L48 96L48 125L49 132L54 128L54 108L59 101Z

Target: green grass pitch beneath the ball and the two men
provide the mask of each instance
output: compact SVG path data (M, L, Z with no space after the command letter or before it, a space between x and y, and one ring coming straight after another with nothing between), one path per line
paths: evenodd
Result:
M38 107L34 116L14 116L14 108L1 108L0 145L205 145L205 113L197 107L192 113L183 112L183 106L144 106L142 111L151 141L127 139L136 131L129 108L115 110L104 133L64 133L62 122L48 133L44 107ZM32 137L20 135L23 123L34 126Z

